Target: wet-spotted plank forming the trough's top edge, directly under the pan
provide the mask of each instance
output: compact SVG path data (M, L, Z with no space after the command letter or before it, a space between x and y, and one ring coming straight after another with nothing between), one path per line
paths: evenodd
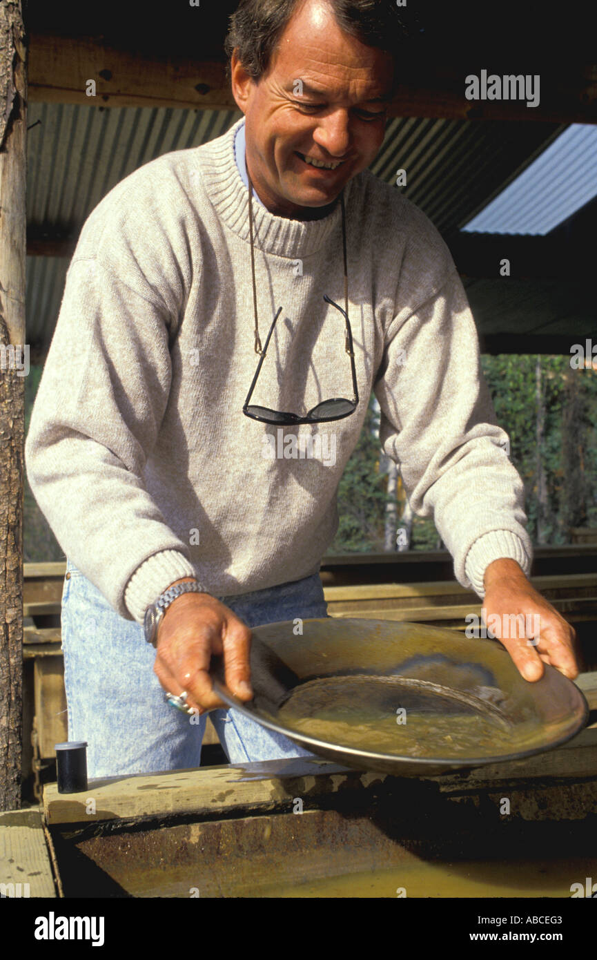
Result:
M204 767L179 770L172 773L115 777L89 780L84 793L59 794L56 783L47 784L43 791L43 809L50 826L65 823L87 823L135 817L155 817L165 814L197 815L224 814L240 808L268 810L276 806L292 806L297 796L314 800L349 784L367 787L371 783L388 780L386 774L349 771L338 764L308 757L229 764L222 767ZM463 777L475 785L484 782L514 782L516 780L544 780L557 777L573 780L597 776L597 729L580 732L561 747L508 763L488 764L474 771L456 774L452 784L461 789ZM428 780L449 786L447 775L441 778L390 778L400 783L413 784ZM93 799L95 813L87 813L88 801Z

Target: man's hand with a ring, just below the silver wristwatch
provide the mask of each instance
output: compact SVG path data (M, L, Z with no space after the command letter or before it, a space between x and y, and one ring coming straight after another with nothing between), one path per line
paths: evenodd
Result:
M228 690L249 701L250 649L251 630L223 603L209 593L182 593L159 621L154 673L167 693L180 696L186 690L186 703L199 713L227 709L213 692L209 662L224 655Z

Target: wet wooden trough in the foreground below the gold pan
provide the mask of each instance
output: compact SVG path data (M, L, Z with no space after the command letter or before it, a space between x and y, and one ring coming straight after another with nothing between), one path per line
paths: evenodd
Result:
M0 874L31 897L570 897L597 878L597 728L419 780L297 758L49 784L0 815Z

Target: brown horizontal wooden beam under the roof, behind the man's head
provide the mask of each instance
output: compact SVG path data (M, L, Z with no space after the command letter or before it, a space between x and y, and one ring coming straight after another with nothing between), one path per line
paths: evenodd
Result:
M466 100L466 71L452 67L425 70L414 82L402 84L389 112L452 120L597 123L595 66L581 62L571 72L562 70L560 62L557 66L543 75L536 108L522 101ZM85 92L89 81L96 84L95 96ZM32 32L29 91L32 101L45 103L237 109L223 61L139 55L90 36Z

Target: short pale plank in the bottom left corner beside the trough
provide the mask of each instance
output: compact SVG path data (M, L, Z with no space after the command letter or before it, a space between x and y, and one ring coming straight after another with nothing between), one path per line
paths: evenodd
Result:
M7 896L18 896L20 891L22 897L56 897L38 809L0 813L0 890Z

